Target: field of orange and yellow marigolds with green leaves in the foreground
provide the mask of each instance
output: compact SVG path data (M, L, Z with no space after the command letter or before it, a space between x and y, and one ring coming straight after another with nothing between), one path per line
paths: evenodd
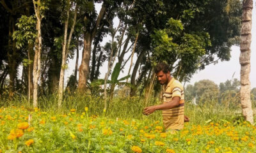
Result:
M256 128L247 122L188 122L165 133L161 121L97 117L87 107L67 114L1 108L0 130L0 152L256 152Z

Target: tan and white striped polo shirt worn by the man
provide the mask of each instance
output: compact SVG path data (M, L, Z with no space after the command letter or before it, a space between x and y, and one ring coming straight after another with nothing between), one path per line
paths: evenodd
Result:
M182 84L172 78L165 85L162 94L163 103L172 103L173 97L179 97L179 106L169 110L162 110L164 129L182 129L184 127L184 89Z

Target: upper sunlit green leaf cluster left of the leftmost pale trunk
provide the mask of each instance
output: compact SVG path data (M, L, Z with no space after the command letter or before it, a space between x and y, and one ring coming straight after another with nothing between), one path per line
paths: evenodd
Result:
M22 48L26 44L33 44L36 38L36 18L22 15L16 24L17 31L13 33L13 40L16 40L16 47Z

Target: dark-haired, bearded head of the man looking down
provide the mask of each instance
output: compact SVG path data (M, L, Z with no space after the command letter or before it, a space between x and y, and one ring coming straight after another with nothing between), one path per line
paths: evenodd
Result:
M156 65L154 68L154 71L156 73L157 80L159 81L159 84L164 85L168 84L169 77L170 77L170 68L168 64L164 62L160 62Z

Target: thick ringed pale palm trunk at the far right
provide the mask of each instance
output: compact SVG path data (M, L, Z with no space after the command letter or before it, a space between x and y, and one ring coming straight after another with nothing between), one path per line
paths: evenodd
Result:
M252 0L243 1L241 43L240 43L240 64L241 64L241 89L240 99L242 113L246 120L253 124L252 103L250 101L250 57L251 57L251 41L252 41Z

